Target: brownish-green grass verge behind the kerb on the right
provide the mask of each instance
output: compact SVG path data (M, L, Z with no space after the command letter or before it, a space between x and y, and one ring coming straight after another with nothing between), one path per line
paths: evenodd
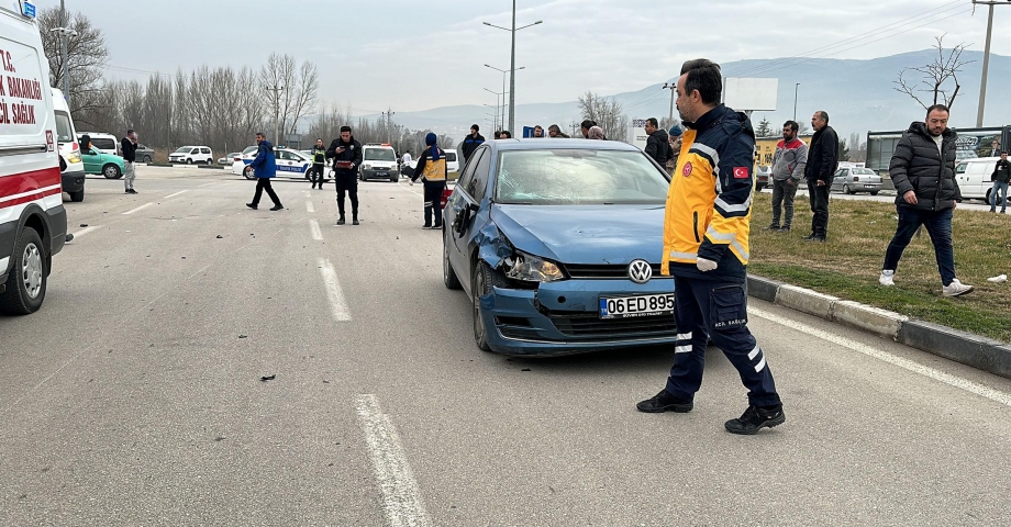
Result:
M798 197L793 232L763 231L771 214L767 194L756 194L752 216L752 261L755 274L813 289L844 300L893 311L911 318L943 324L1011 341L1011 282L987 278L1011 274L1011 215L956 210L953 222L955 272L976 287L965 296L941 295L934 247L925 229L913 237L896 271L896 287L878 284L885 249L898 225L896 208L870 201L832 200L829 242L804 242L811 212Z

